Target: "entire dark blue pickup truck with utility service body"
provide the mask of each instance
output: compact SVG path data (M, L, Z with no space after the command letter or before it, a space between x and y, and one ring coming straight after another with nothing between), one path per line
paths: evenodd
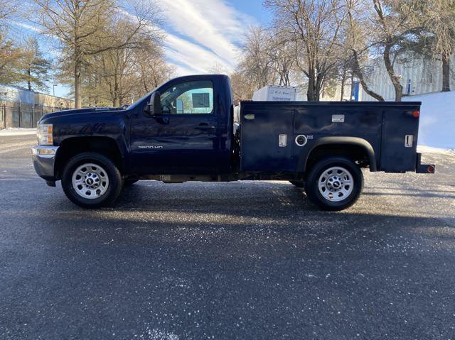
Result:
M45 114L33 164L87 208L138 180L283 180L326 210L350 207L361 168L432 173L417 153L418 102L240 102L225 75L178 77L127 108Z

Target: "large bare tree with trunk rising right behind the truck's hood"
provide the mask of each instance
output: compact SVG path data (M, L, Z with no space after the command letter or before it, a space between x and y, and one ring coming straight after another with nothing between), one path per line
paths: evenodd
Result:
M40 15L39 23L45 33L58 38L60 49L72 67L75 107L81 105L82 68L87 58L107 50L124 48L145 28L152 29L156 4L129 1L128 10L121 9L115 0L34 0ZM121 43L106 30L116 14L133 16L134 29L124 32Z

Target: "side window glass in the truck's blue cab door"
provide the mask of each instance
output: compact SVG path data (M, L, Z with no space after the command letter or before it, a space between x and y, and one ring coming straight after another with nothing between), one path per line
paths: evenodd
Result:
M163 114L212 114L213 84L210 80L183 82L161 93Z

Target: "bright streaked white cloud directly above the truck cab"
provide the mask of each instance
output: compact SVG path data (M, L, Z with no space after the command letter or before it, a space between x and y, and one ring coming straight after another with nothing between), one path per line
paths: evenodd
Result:
M223 0L159 0L168 26L166 55L185 72L205 73L215 65L231 72L240 50L236 43L254 19ZM182 71L182 70L178 70Z

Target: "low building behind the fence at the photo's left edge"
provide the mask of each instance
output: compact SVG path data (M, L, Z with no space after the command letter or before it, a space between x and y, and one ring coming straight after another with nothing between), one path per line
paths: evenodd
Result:
M71 99L0 84L0 128L34 128L43 114L73 108Z

